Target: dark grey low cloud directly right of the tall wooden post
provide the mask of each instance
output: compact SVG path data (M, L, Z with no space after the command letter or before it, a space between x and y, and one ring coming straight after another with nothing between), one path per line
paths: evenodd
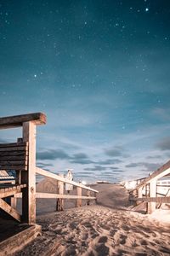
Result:
M37 152L37 160L65 160L70 159L69 154L66 154L62 149L48 149L47 151Z

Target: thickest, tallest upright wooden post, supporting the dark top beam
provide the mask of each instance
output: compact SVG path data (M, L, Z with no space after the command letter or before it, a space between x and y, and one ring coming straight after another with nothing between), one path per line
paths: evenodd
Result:
M28 142L28 171L22 172L21 182L26 183L22 196L22 221L36 223L36 125L23 123L23 142Z

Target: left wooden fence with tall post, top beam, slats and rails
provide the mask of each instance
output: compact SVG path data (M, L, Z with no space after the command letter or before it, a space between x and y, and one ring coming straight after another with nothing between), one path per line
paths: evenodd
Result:
M82 199L96 200L97 190L82 183L67 180L52 172L47 172L36 166L36 127L46 124L44 113L28 113L18 116L0 118L0 129L21 127L23 136L16 143L0 144L0 170L14 170L15 184L0 184L0 208L17 221L28 224L36 223L36 198L57 199L57 210L64 209L64 199L76 199L77 207L82 206ZM58 182L58 193L36 193L36 173L50 177ZM77 187L77 195L64 195L64 184L70 183ZM87 195L82 196L82 189ZM94 195L91 195L94 193ZM10 197L10 203L5 198ZM16 200L22 197L22 215L16 210Z

